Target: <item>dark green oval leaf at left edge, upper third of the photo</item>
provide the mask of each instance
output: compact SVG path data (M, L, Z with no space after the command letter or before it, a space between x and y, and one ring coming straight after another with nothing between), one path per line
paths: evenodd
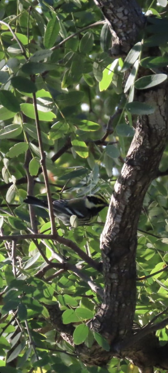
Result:
M6 109L11 110L14 113L18 113L20 111L20 104L15 95L6 90L0 91L0 103Z

